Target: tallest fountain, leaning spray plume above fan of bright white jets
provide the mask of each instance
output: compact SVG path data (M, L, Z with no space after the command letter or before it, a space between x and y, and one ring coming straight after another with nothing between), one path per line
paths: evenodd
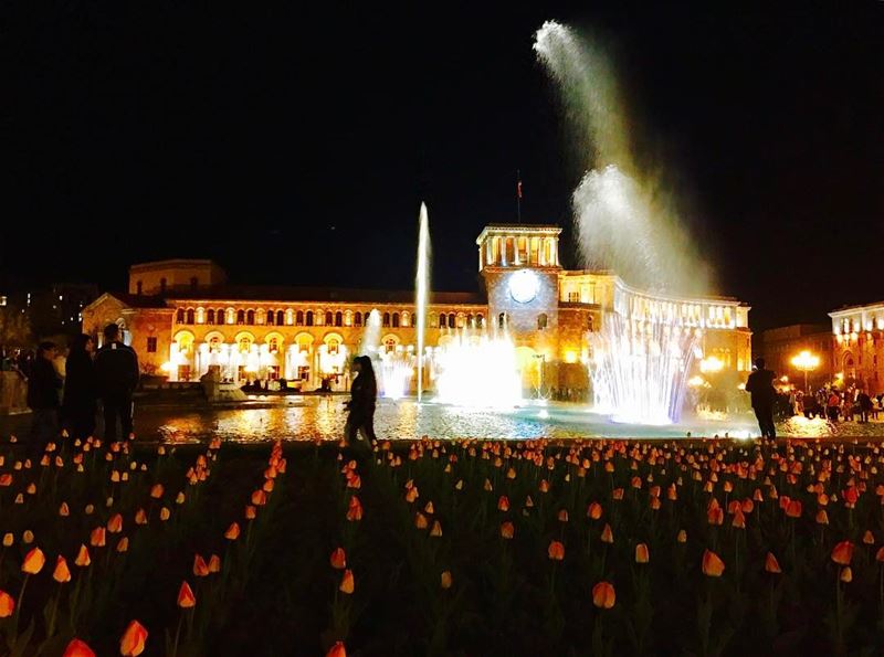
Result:
M587 268L613 269L653 292L707 289L705 265L655 181L638 179L622 104L607 59L571 29L548 21L534 50L559 83L583 146L573 192L575 232ZM625 305L625 304L624 304ZM669 424L681 414L696 336L664 321L609 315L590 333L594 410L615 421Z

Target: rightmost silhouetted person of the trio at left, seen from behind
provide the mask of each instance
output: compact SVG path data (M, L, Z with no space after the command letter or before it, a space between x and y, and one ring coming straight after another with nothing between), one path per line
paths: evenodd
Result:
M138 357L119 341L119 327L104 327L104 346L95 354L95 379L104 407L104 439L117 439L117 418L123 439L133 436L131 394L138 385Z

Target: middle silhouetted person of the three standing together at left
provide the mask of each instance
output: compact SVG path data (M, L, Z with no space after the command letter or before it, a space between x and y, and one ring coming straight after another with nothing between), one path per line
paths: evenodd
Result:
M72 438L81 441L95 431L97 392L95 389L95 351L93 339L83 333L75 337L65 363L64 400L62 420Z

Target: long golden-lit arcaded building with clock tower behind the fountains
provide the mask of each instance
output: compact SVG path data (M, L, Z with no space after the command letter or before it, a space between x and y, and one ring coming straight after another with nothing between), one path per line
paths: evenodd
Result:
M727 370L749 370L747 306L732 298L649 294L610 272L565 271L560 232L552 225L486 226L476 240L484 294L431 293L430 350L460 329L505 330L516 345L526 391L585 391L587 335L604 314L617 312L632 322L696 330L704 354ZM143 371L171 381L196 381L215 369L241 383L285 379L313 390L330 379L334 389L346 389L349 360L373 310L380 317L379 349L412 352L413 292L236 286L210 261L176 259L133 265L128 292L106 293L85 308L83 330L98 336L117 322ZM431 388L427 377L424 388Z

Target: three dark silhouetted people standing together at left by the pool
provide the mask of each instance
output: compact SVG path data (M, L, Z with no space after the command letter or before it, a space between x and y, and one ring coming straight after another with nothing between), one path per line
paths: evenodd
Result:
M95 351L91 336L75 337L64 362L56 368L59 348L41 342L29 368L28 406L32 410L29 442L38 451L54 439L60 430L84 439L96 427L98 403L104 416L104 438L133 436L133 393L138 385L138 357L119 339L119 327L108 324L104 346ZM119 425L120 434L117 434Z

